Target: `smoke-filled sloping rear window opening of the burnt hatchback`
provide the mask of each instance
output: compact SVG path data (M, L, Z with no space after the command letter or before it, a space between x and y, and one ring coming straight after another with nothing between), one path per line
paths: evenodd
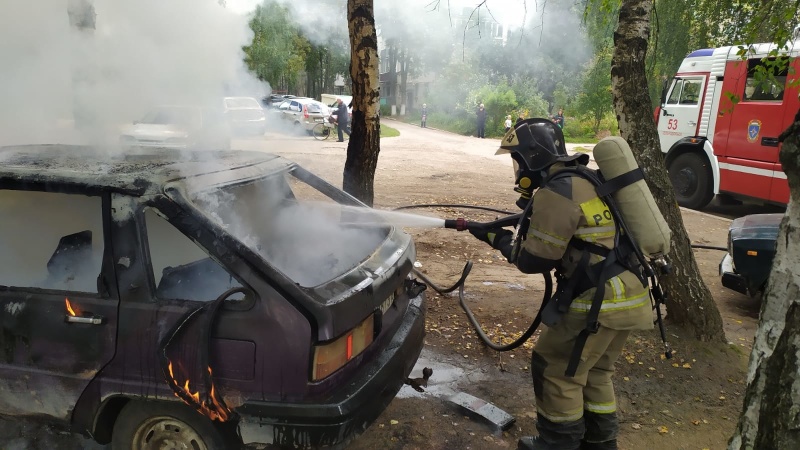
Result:
M189 200L292 281L314 287L371 256L390 226L373 210L340 204L295 175L287 170L195 191Z

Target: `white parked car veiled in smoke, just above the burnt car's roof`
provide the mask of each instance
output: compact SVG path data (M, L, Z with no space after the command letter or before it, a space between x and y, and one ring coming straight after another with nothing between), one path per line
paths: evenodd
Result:
M228 150L230 127L222 108L158 106L123 128L123 147Z

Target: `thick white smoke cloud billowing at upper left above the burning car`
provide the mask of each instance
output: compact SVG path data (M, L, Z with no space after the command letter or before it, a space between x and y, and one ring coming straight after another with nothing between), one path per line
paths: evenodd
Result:
M0 145L116 142L156 105L269 93L248 17L216 0L0 4Z

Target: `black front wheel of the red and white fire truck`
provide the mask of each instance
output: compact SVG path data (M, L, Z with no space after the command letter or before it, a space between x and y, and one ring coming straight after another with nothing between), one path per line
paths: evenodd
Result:
M670 163L668 172L679 205L700 209L714 197L711 173L705 157L697 153L678 155Z

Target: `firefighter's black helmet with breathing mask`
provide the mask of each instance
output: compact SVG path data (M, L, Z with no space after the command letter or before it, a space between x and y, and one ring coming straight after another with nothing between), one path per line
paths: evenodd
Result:
M514 191L520 194L516 202L520 209L528 206L554 163L588 159L581 154L569 156L561 128L541 118L525 119L508 130L495 154L503 153L510 153L514 161Z

